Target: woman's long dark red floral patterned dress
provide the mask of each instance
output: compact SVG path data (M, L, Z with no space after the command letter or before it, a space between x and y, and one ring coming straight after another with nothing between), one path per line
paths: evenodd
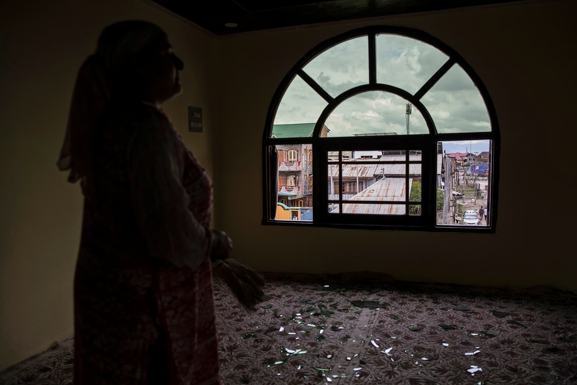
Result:
M160 110L113 106L83 180L75 383L149 384L160 346L168 367L155 383L220 384L211 181Z

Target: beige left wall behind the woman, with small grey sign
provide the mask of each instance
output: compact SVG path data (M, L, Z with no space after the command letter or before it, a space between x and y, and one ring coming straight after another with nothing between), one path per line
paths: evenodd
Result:
M212 175L208 72L216 40L134 0L2 3L0 10L0 370L73 332L82 199L56 161L76 73L102 29L126 19L167 31L184 92L164 109ZM202 60L199 60L201 58ZM187 106L206 114L186 132Z

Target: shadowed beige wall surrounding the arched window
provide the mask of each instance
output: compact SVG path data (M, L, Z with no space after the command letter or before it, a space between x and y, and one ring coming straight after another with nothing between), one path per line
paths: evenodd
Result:
M577 289L574 252L561 251L575 224L569 223L572 210L560 203L572 197L575 182L559 179L563 172L558 167L571 167L567 154L572 144L561 143L575 137L575 96L569 83L575 88L571 15L576 10L574 2L553 2L381 21L422 29L447 43L473 66L492 95L502 138L494 235L261 225L262 135L276 87L318 43L379 22L222 38L226 57L220 108L226 114L218 123L224 130L223 151L215 161L223 180L216 204L226 215L217 223L234 239L234 256L264 271L370 270L415 281ZM538 160L531 165L538 177L520 175L519 154L524 153ZM234 166L239 159L242 172ZM291 251L279 255L279 245L290 245L286 250Z

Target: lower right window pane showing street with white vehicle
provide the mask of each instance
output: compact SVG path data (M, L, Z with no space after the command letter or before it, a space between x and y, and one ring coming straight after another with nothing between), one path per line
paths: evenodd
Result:
M437 143L438 225L489 224L485 209L490 205L490 144L490 140ZM487 214L490 217L489 210Z

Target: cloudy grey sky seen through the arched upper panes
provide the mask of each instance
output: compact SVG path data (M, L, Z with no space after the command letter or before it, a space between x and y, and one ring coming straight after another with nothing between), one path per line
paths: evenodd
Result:
M378 83L391 84L414 94L448 58L419 40L383 34L376 39L376 59ZM309 62L304 71L329 95L336 97L350 88L368 84L368 63L368 38L363 36L324 51ZM469 76L458 65L449 69L421 102L429 110L439 132L490 131L485 103ZM382 91L355 95L329 115L325 123L331 130L328 135L406 134L406 103L403 98ZM326 105L327 102L297 75L280 102L274 123L314 123ZM410 133L426 132L425 120L413 106ZM473 150L477 151L474 145ZM479 148L478 152L486 150Z

